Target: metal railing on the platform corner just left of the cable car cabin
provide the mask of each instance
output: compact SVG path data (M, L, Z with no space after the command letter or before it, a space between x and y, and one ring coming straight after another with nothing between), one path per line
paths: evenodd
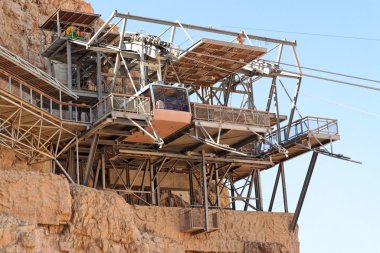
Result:
M91 108L91 121L96 122L113 111L150 116L150 98L111 93Z

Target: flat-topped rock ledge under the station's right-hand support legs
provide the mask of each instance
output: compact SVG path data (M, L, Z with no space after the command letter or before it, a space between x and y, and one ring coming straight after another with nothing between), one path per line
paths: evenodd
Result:
M289 232L292 214L219 211L219 230L183 233L186 209L133 206L139 230L180 242L186 252L299 252L297 232Z

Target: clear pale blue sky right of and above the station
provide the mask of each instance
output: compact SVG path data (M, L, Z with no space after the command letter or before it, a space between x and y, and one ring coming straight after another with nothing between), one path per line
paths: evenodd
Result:
M113 10L183 23L297 40L301 65L354 76L380 79L380 2L378 1L120 1L91 0L107 19ZM132 25L131 25L132 26ZM141 27L136 26L140 29ZM149 33L149 28L144 32ZM366 37L343 39L285 32ZM152 30L153 31L153 30ZM198 34L192 34L194 38ZM262 44L262 46L268 46ZM284 61L292 62L285 56ZM311 73L311 72L310 72ZM324 75L327 76L327 75ZM339 78L346 80L344 78ZM294 82L283 80L293 93ZM352 80L353 81L353 80ZM355 81L380 87L377 83ZM269 81L260 84L269 87ZM280 91L280 110L290 104ZM261 94L263 94L261 96ZM369 91L304 78L299 99L303 116L339 120L341 141L334 151L362 165L319 156L299 220L301 252L380 252L379 96ZM259 96L259 97L258 97ZM258 92L256 99L265 99ZM261 107L261 108L260 108ZM259 109L265 109L264 104ZM294 211L310 155L285 164L290 210ZM264 205L268 206L276 169L263 173ZM281 194L277 195L280 200ZM281 211L281 208L278 208Z

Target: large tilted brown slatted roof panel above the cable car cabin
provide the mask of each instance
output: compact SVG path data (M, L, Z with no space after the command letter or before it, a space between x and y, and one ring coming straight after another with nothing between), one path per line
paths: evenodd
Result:
M261 47L201 39L168 67L166 82L208 86L247 65L266 51Z

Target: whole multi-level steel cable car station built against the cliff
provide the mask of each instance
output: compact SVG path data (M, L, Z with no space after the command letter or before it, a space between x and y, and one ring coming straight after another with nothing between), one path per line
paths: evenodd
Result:
M188 195L184 205L202 209L204 217L203 226L189 228L191 232L214 230L210 210L273 211L280 181L283 209L289 212L285 163L311 152L289 224L294 230L318 154L350 160L324 147L340 138L336 120L297 119L303 75L295 41L116 11L101 27L94 27L98 18L58 10L41 26L56 38L44 45L42 54L48 58L50 74L58 76L57 66L64 64L67 76L59 82L41 74L45 82L53 80L48 94L21 78L23 73L1 68L1 145L29 162L52 160L71 182L114 189L129 203L164 205L162 193L167 191ZM126 32L131 21L162 26L163 32ZM71 23L80 36L68 34ZM229 36L229 41L232 36L234 41L196 42L190 33ZM180 47L184 38L192 42L187 49ZM274 46L254 45L258 42ZM290 50L297 71L282 68L284 50ZM269 55L276 51L271 60ZM14 55L3 55L0 65L25 66L11 61ZM30 67L23 71L36 72ZM280 77L295 82L293 97ZM264 80L269 92L260 105L254 85ZM280 114L279 84L292 104L286 115ZM179 100L181 105L176 104ZM261 173L275 166L266 207ZM228 205L222 205L225 192Z

